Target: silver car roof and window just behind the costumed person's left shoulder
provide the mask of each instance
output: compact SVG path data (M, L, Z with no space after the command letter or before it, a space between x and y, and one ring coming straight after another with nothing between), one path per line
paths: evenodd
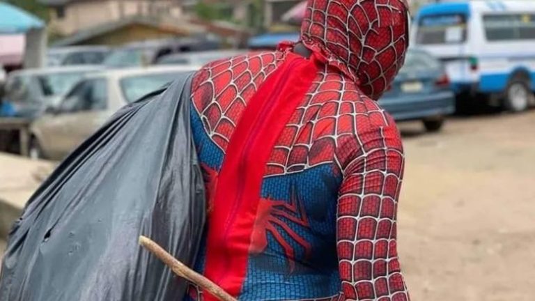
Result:
M211 61L244 54L245 50L212 50L206 52L186 52L162 56L157 65L206 65Z

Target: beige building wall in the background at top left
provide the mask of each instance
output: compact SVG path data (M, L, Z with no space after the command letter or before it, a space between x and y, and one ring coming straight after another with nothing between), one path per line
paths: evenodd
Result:
M50 10L50 29L61 36L134 15L180 17L176 0L38 0Z

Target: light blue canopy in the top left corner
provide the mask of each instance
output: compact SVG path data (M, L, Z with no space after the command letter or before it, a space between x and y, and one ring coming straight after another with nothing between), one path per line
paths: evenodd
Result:
M0 33L24 33L45 26L38 17L26 11L0 2Z

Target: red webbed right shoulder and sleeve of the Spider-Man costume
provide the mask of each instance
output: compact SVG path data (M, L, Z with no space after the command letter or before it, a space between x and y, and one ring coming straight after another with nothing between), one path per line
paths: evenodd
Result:
M328 66L286 125L266 176L320 164L343 173L337 219L340 298L409 300L396 250L401 138L375 101Z

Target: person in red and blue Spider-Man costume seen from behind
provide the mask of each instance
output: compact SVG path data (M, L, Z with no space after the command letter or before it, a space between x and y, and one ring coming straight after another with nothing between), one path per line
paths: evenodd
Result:
M239 300L409 300L403 149L375 101L407 47L404 0L309 0L299 43L196 73L209 204L198 272ZM216 299L191 284L187 300Z

